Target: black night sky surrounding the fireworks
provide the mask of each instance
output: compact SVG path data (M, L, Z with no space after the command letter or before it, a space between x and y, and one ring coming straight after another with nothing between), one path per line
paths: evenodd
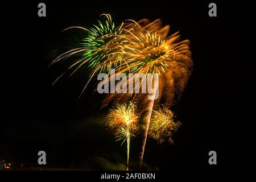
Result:
M0 159L37 163L46 151L47 166L85 169L123 169L126 147L120 147L100 123L100 101L85 92L83 72L51 83L64 71L48 68L61 52L75 46L79 31L61 33L70 26L89 27L102 13L122 20L160 18L170 34L180 31L191 40L194 70L179 104L173 109L183 123L174 144L148 140L145 169L252 169L255 134L250 118L254 61L249 56L249 4L217 3L217 17L208 16L209 2L167 1L42 1L47 16L38 17L38 2L8 3L2 7L2 119ZM72 34L73 32L73 34ZM72 37L73 36L73 37ZM131 164L138 147L131 140ZM208 152L217 152L217 165L208 164Z

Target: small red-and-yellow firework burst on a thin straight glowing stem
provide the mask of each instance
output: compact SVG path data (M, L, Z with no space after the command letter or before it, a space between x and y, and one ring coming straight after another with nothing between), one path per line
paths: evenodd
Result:
M122 144L125 141L127 143L127 170L129 169L130 139L135 136L134 133L138 129L138 118L136 106L132 102L117 104L106 116L106 124L117 141L121 141Z

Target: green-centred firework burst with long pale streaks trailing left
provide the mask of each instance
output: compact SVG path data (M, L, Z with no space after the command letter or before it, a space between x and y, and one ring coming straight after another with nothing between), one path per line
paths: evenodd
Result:
M89 80L86 82L84 89L81 94L84 92L86 86L89 84L90 80L96 73L101 72L110 72L111 68L126 68L127 63L123 63L122 55L125 53L123 51L122 44L130 42L127 38L122 36L122 26L115 28L112 18L109 14L102 14L106 17L105 22L100 22L98 24L93 24L92 28L86 29L83 27L69 27L70 28L80 28L81 30L86 31L86 38L81 40L80 46L75 49L71 49L52 61L52 64L55 64L59 61L63 61L68 57L73 55L80 55L80 59L76 60L75 63L71 64L68 67L67 71L74 69L70 76L72 76L78 69L81 69L83 65L87 65L88 69L91 71ZM64 30L64 31L65 31ZM133 43L131 43L133 44ZM65 73L61 74L54 82L59 80ZM80 96L81 96L80 94ZM79 96L79 97L80 97Z

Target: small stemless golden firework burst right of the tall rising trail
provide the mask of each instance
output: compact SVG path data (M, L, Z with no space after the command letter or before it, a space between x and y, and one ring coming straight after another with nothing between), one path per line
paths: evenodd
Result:
M159 110L152 111L148 136L155 139L158 143L167 141L171 144L173 143L172 135L180 126L181 123L175 121L174 112L163 106Z

